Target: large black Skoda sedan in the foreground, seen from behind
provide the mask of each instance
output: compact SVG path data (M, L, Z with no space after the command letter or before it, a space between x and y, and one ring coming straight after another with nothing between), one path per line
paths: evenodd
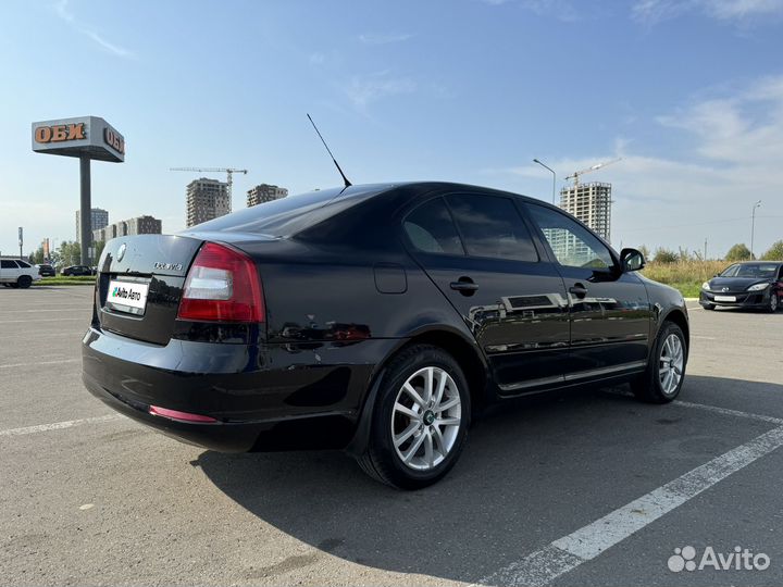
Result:
M596 382L666 403L685 374L685 303L638 251L487 188L293 196L98 266L95 396L213 450L345 449L401 488L442 478L489 404Z

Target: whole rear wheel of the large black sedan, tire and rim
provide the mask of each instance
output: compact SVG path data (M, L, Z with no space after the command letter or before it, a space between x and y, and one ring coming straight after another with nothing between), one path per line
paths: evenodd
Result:
M470 414L468 382L453 358L431 345L408 347L386 369L359 464L400 489L432 485L457 462Z

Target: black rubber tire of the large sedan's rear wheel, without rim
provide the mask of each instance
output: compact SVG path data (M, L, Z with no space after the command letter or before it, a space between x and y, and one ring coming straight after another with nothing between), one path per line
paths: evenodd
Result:
M459 395L461 413L453 445L446 457L432 469L418 471L407 465L395 448L394 409L403 384L419 370L427 366L438 367L451 377ZM470 426L470 400L468 380L450 354L432 345L413 345L402 349L386 366L372 413L370 441L364 454L357 458L359 465L374 479L399 489L421 489L440 480L462 452ZM432 429L432 426L430 428Z

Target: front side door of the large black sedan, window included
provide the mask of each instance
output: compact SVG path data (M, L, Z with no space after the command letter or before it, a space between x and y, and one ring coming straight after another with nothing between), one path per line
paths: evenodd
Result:
M526 210L568 290L571 352L567 380L644 369L652 309L643 280L634 273L623 273L609 247L571 216L534 203L527 203Z

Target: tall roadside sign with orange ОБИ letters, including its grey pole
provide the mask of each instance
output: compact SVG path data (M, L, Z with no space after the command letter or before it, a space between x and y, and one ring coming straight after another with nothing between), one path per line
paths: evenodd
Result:
M91 264L92 203L90 161L125 161L125 138L98 116L59 118L33 123L33 150L37 153L75 157L79 160L79 248L82 264ZM21 228L20 228L21 230ZM22 234L20 232L20 247Z

